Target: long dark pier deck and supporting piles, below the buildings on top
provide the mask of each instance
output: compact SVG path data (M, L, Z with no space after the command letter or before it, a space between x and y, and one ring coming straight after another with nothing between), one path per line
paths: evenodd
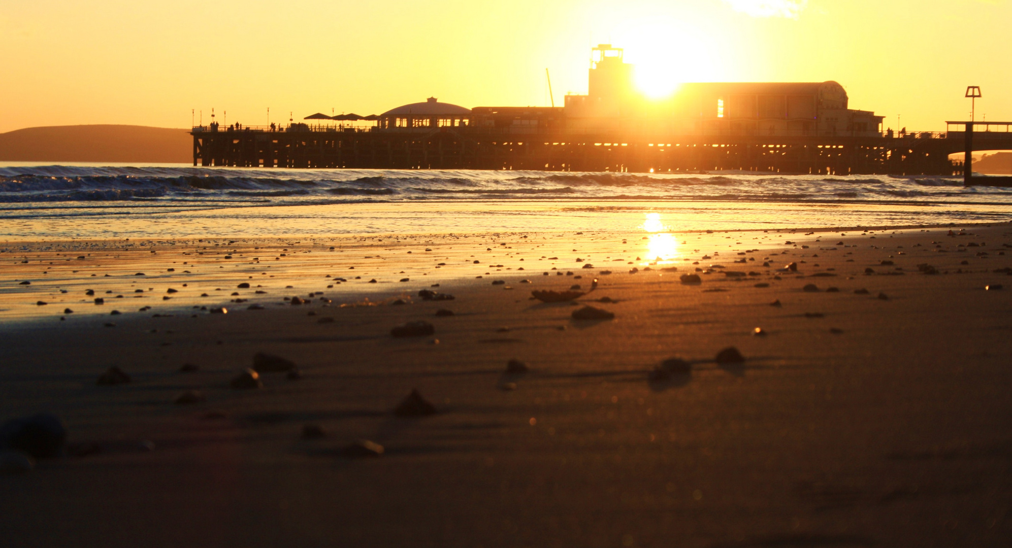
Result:
M956 123L956 122L952 122ZM1012 132L978 123L972 151L1012 150ZM903 136L516 132L512 128L194 127L193 165L307 169L477 169L686 173L736 170L784 174L961 175L949 155L966 131ZM983 130L982 130L983 129Z

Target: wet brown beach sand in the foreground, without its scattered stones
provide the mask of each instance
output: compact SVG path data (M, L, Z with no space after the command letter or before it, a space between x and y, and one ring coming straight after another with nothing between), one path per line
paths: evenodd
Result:
M0 254L0 419L55 413L72 455L0 476L0 533L1007 546L1012 278L996 270L1012 226L948 231L19 243ZM575 305L530 298L594 278ZM587 304L615 316L573 319ZM434 334L391 337L413 321ZM745 362L715 363L727 347ZM257 352L302 378L230 388ZM674 357L691 371L651 380ZM511 358L529 371L507 373ZM96 385L110 366L132 382ZM173 403L190 389L205 401ZM435 415L394 415L412 389ZM307 425L325 435L302 439ZM361 439L384 454L347 456Z

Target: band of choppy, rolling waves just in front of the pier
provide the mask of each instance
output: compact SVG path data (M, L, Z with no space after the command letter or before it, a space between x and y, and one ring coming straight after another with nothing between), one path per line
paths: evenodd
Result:
M1007 203L1012 190L955 177L569 173L270 168L0 168L0 202L251 202L300 205L397 200L736 200Z

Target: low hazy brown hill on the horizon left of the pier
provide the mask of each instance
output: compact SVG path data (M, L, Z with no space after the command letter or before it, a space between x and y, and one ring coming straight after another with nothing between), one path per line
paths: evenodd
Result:
M146 125L53 125L0 133L0 161L191 163L186 129Z

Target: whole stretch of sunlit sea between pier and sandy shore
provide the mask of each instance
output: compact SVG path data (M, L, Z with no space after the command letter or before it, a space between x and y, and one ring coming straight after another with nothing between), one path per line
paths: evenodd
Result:
M0 241L899 227L1012 220L955 177L0 163Z

